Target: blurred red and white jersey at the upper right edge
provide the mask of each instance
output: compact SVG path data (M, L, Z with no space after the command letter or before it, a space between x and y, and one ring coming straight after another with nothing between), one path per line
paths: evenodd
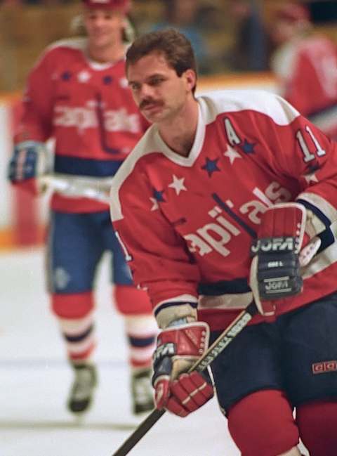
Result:
M337 47L319 35L280 46L272 58L281 95L324 133L337 138Z

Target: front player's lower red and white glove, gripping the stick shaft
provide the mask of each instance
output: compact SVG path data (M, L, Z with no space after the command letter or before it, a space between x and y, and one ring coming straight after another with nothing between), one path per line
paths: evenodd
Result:
M203 322L186 323L162 330L154 351L154 400L160 410L166 408L185 417L213 397L209 372L187 372L206 351L209 326Z

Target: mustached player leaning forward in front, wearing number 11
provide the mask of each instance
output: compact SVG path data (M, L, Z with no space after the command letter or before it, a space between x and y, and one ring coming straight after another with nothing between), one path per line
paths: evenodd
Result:
M243 456L336 456L337 146L264 91L194 96L190 42L136 39L126 74L152 122L112 185L111 213L161 332L155 402L179 416L213 396L185 372L253 299L211 365ZM296 408L296 420L293 419Z

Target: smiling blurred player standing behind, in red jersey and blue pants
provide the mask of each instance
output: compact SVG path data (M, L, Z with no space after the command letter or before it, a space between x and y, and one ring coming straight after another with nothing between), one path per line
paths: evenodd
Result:
M9 167L13 183L37 190L46 171L48 138L55 138L55 172L99 180L114 175L143 135L148 124L133 102L124 70L128 8L127 0L84 0L87 36L49 46L32 70ZM144 412L154 407L151 364L157 323L150 301L133 286L109 205L54 193L48 283L74 370L68 408L75 413L88 410L96 383L93 285L105 251L112 252L114 301L124 316L133 412Z

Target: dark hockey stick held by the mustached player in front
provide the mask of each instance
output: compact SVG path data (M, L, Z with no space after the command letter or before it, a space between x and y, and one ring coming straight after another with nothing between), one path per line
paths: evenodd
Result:
M237 334L242 332L244 327L248 325L248 323L253 318L253 315L258 313L258 309L254 301L247 306L244 311L237 315L237 318L220 334L218 339L211 344L209 349L204 353L199 360L197 360L192 367L190 367L189 372L192 370L197 370L197 372L201 372L209 366L213 360L226 348L227 345L232 342L234 337L237 337ZM146 417L143 422L140 423L136 431L129 436L126 441L118 448L117 451L114 452L112 456L126 456L129 451L140 441L140 439L145 436L147 431L149 431L152 426L159 420L159 418L164 415L165 409L162 410L153 410L153 412Z

